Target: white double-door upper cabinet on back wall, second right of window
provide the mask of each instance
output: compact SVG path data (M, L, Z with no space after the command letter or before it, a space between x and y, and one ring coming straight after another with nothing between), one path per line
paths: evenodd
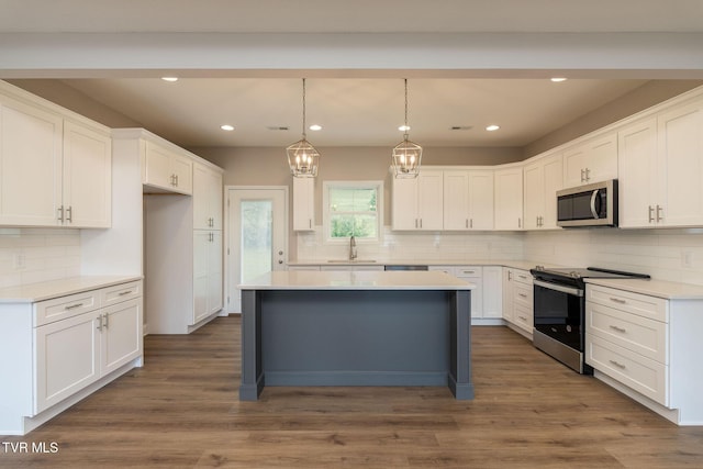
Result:
M493 228L493 170L444 171L444 230Z

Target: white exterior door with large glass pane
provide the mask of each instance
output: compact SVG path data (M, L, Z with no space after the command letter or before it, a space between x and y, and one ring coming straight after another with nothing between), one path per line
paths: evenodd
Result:
M237 284L288 264L288 188L227 189L227 304L242 312Z

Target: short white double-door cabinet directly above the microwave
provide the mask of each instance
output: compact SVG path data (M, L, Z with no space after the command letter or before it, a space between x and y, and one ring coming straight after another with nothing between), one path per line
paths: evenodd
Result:
M563 187L617 179L617 133L609 132L563 150Z

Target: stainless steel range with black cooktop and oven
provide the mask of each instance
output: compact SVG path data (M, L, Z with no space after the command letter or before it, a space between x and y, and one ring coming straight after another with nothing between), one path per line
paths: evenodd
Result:
M584 360L585 282L587 278L640 278L643 273L599 269L547 269L537 266L529 272L534 280L535 347L569 368L592 375Z

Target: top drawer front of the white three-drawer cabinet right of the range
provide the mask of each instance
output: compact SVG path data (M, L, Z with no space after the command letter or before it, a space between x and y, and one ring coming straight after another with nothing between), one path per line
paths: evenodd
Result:
M600 303L638 316L649 317L665 323L669 322L669 302L661 298L632 293L599 286L587 286L587 301Z

